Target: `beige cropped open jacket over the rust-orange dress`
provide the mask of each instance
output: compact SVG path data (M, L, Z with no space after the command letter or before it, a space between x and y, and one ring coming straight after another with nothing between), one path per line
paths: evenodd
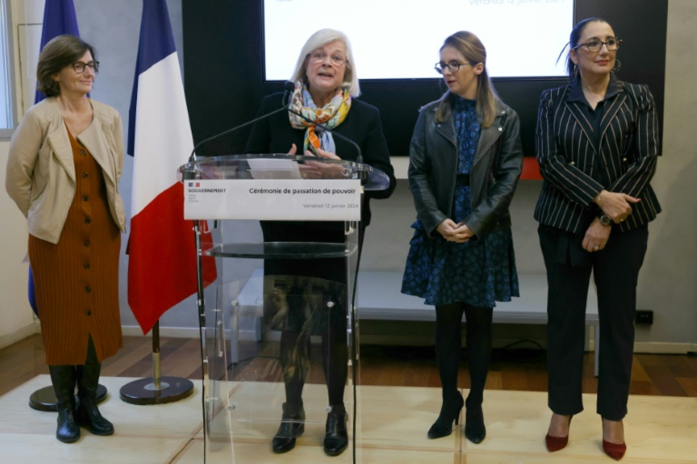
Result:
M114 223L125 232L118 179L123 168L123 128L116 109L90 99L91 125L77 136L99 166ZM5 188L26 216L29 233L58 243L75 197L75 165L61 105L49 97L29 109L10 141Z

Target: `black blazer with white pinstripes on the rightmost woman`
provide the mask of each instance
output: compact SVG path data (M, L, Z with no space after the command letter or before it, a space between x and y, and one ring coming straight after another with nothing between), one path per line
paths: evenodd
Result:
M659 150L658 120L648 86L616 82L618 92L605 103L600 122L599 152L590 134L594 130L581 111L581 102L569 101L571 84L544 90L537 113L535 145L544 181L535 207L535 219L569 232L585 231L597 211L593 198L605 189L627 193L641 202L632 214L613 227L630 230L652 221L661 207L649 182L656 172ZM594 176L604 170L608 185Z

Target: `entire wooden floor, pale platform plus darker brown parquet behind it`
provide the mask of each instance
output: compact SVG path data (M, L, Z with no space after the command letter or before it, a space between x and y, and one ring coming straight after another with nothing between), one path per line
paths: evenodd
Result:
M162 375L200 378L197 339L161 339ZM351 454L327 457L321 450L325 387L321 369L311 369L303 398L305 434L288 454L269 451L283 399L273 343L240 346L237 365L229 369L227 396L236 402L231 413L211 425L217 438L208 444L208 463L352 464ZM317 349L314 349L318 351ZM602 431L595 414L597 383L592 355L584 363L586 409L574 418L569 446L555 454L544 448L549 422L546 406L546 362L541 350L495 350L487 381L484 416L487 439L473 445L455 429L447 438L427 440L425 431L440 407L440 383L433 347L362 346L357 443L362 464L593 464L609 460L602 453ZM315 353L314 358L319 358ZM316 362L316 361L315 361ZM467 363L461 364L459 387L468 388ZM118 400L118 389L135 378L151 376L151 339L127 337L124 348L103 364L100 383L109 397L100 409L116 424L112 437L84 431L74 445L54 438L55 413L26 405L29 394L50 384L45 375L38 335L0 350L0 463L139 463L203 462L201 384L194 396L160 406L135 406ZM261 373L261 374L260 374ZM41 375L43 374L43 375ZM252 380L250 380L252 379ZM258 381L261 380L261 381ZM636 355L630 414L625 418L627 464L697 463L697 358L687 355ZM222 393L222 391L220 392ZM347 395L349 392L346 392ZM245 395L256 401L247 401ZM346 406L353 410L347 396ZM261 401L259 401L261 400ZM255 404L253 420L243 406ZM242 405L242 407L240 407ZM224 406L224 405L222 405ZM222 407L220 411L229 408ZM144 413L146 411L146 413ZM236 416L237 415L237 416ZM261 420L260 420L261 419ZM216 419L217 420L217 419ZM462 423L462 422L461 422ZM217 424L217 429L216 429ZM352 426L349 422L349 426ZM229 446L229 442L235 446Z

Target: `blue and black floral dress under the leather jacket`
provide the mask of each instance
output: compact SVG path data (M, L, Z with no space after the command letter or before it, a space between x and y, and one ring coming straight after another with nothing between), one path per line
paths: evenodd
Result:
M481 127L476 101L454 97L453 120L457 135L458 174L469 174L477 152ZM450 218L460 223L470 214L469 186L457 186ZM491 232L465 243L430 238L421 221L411 225L414 236L406 259L401 291L425 298L427 305L464 302L494 307L496 301L519 296L518 274L510 228Z

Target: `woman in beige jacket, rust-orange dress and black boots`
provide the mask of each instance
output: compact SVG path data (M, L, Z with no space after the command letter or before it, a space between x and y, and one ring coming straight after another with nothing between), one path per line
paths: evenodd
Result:
M60 35L44 47L38 88L10 142L6 189L29 224L41 334L56 392L56 438L114 427L95 401L101 361L121 348L118 257L125 230L118 179L121 117L88 97L99 62L91 45ZM76 406L74 397L77 383Z

